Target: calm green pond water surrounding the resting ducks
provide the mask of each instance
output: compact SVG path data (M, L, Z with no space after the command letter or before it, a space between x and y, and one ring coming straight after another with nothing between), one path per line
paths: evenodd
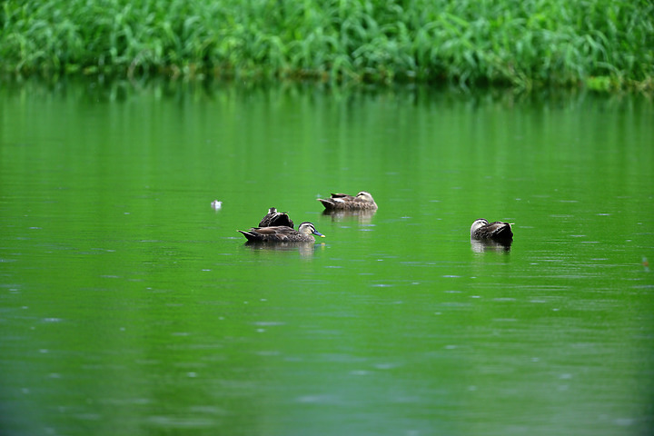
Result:
M0 430L649 434L653 115L629 95L5 83ZM376 213L316 201L359 191ZM272 206L326 237L245 244ZM513 243L471 243L477 218Z

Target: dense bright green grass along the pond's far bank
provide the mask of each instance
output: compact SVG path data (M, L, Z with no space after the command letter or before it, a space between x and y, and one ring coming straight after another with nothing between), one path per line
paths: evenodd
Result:
M0 72L654 92L650 0L2 2Z

